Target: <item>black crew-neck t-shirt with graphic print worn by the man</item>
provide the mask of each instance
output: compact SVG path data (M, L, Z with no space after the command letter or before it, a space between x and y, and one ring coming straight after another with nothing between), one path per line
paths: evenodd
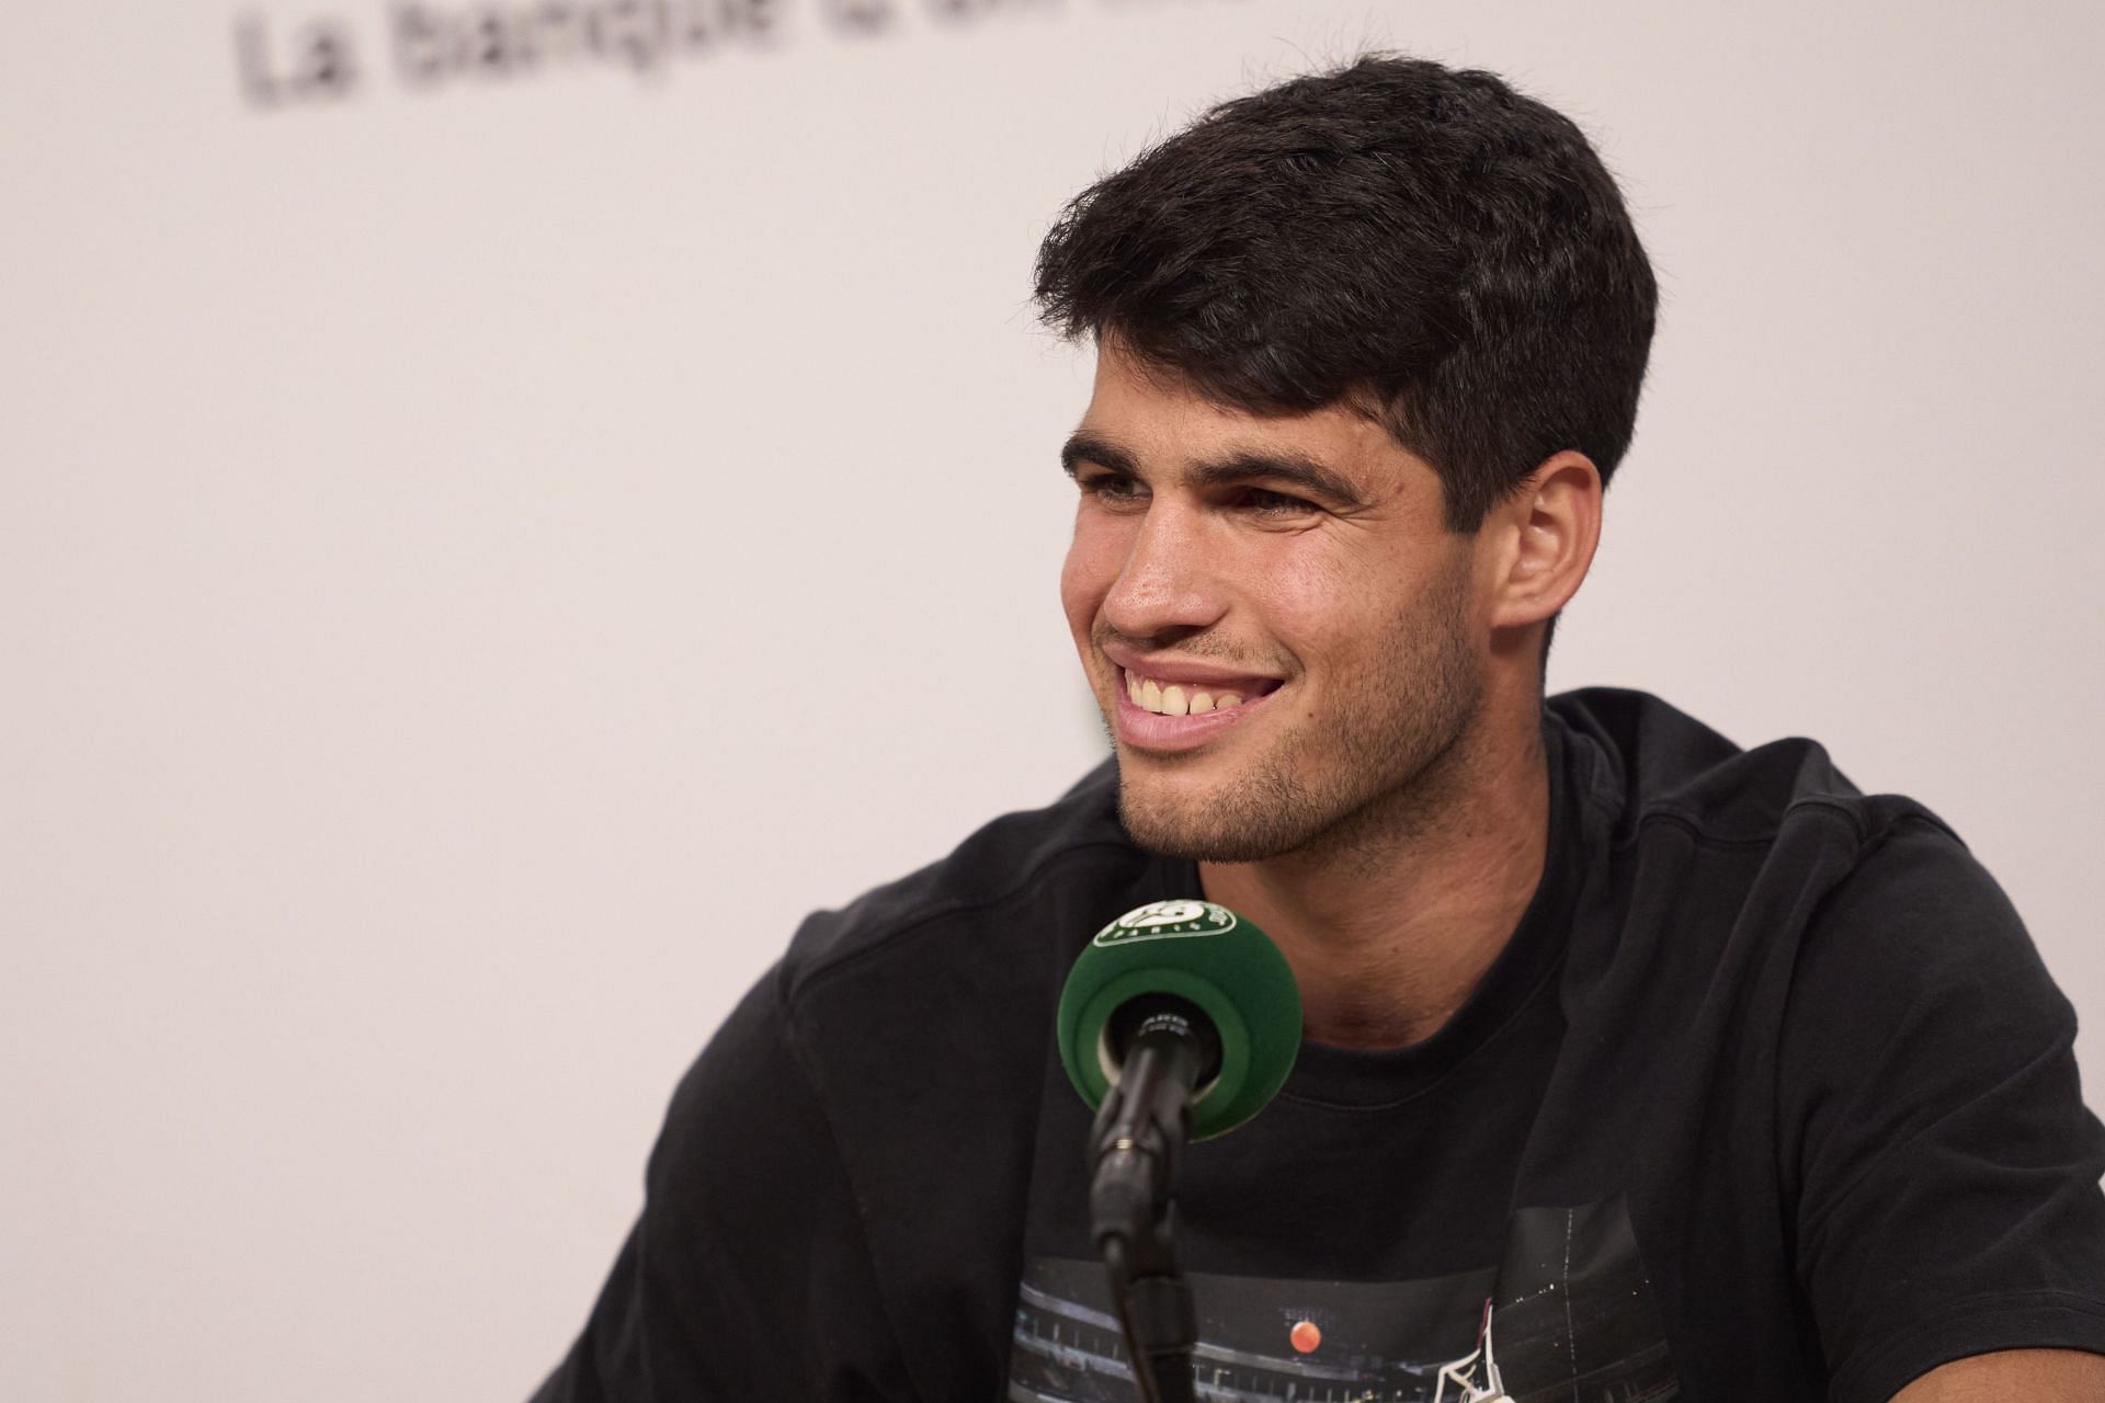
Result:
M1636 692L1551 698L1543 738L1549 860L1467 1003L1305 1045L1187 1153L1202 1386L1880 1403L2105 1353L2073 1010L1966 848ZM810 917L680 1083L539 1399L1130 1397L1052 1012L1107 919L1198 894L1105 768Z

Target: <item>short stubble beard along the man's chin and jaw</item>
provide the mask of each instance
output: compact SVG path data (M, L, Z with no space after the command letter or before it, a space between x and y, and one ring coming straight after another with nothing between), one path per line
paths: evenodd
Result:
M1438 825L1482 698L1465 589L1450 581L1400 616L1396 652L1377 675L1337 688L1330 711L1286 730L1250 770L1208 793L1128 782L1120 757L1126 833L1147 852L1196 862L1297 854L1351 867Z

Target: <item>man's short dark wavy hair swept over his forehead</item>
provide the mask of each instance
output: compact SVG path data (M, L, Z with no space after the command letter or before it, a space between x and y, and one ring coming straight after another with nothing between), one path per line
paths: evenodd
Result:
M1368 55L1212 107L1076 196L1038 305L1223 404L1377 416L1471 532L1564 448L1629 448L1657 286L1579 128Z

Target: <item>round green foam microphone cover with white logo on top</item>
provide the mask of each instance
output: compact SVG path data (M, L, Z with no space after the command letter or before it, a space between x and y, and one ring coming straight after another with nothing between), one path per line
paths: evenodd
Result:
M1191 1102L1191 1138L1242 1125L1286 1083L1301 1052L1301 987L1271 936L1210 900L1158 900L1097 932L1059 997L1059 1056L1097 1109L1118 1079L1105 1026L1126 999L1168 993L1221 1035L1221 1073Z

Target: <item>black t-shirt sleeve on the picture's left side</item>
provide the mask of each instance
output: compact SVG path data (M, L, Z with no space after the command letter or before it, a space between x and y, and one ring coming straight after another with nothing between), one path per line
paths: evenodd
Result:
M644 1212L535 1403L911 1397L777 976L674 1094Z

